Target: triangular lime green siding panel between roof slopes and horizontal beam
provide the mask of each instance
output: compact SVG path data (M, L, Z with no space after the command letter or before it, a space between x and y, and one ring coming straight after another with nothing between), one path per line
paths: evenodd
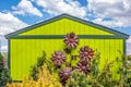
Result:
M78 35L114 35L69 18L61 18L20 35L66 35L71 32Z

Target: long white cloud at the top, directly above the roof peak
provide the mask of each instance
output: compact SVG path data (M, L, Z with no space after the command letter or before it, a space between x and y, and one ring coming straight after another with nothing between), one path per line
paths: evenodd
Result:
M69 13L79 17L86 16L86 8L74 0L32 0L49 14Z

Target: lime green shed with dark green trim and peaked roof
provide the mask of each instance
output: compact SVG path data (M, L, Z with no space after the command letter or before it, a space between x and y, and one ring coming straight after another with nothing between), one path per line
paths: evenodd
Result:
M9 41L12 79L21 80L27 76L31 65L36 63L43 50L47 58L50 58L55 50L62 50L63 36L71 32L79 36L78 49L90 46L100 52L102 67L107 60L112 61L120 57L118 50L126 53L128 35L69 14L61 14L5 36Z

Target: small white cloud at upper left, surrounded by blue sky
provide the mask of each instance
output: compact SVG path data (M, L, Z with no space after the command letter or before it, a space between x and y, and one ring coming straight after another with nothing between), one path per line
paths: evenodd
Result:
M21 0L21 2L16 7L12 7L14 14L21 14L21 15L37 15L39 17L43 16L43 13L33 5L33 3L29 0Z

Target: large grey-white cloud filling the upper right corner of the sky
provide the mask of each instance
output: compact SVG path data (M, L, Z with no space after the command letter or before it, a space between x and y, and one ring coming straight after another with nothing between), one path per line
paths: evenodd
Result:
M131 0L87 0L88 10L96 15L94 22L106 26L131 26ZM111 17L111 21L103 21Z

